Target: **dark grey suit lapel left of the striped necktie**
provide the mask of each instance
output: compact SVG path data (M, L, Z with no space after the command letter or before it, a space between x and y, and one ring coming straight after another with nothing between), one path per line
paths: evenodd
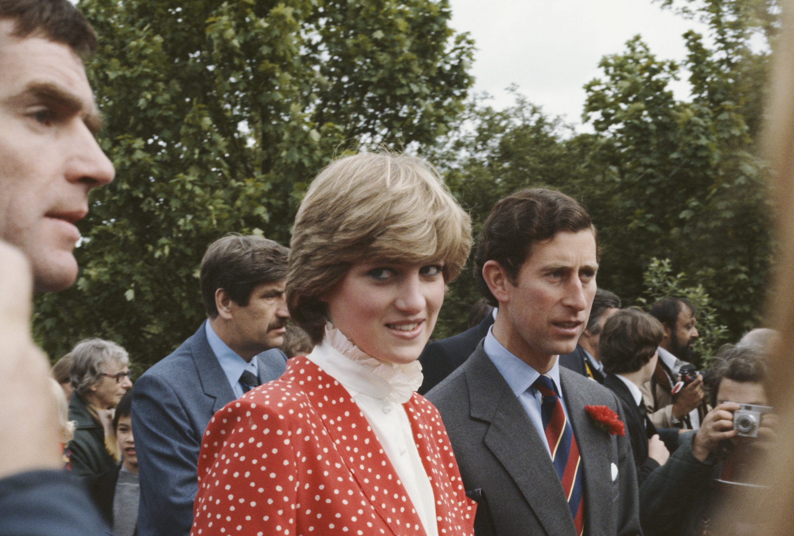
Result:
M481 342L469 361L465 373L472 418L491 423L485 445L515 481L546 533L576 534L549 452Z

